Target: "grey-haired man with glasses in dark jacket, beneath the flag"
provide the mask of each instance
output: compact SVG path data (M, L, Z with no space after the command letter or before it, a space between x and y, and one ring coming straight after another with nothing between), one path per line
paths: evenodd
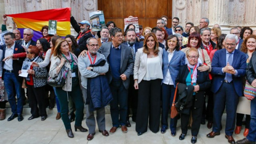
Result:
M26 28L23 30L23 39L17 41L17 44L25 46L27 50L29 45L36 45L36 42L32 40L33 36L34 31L30 28Z

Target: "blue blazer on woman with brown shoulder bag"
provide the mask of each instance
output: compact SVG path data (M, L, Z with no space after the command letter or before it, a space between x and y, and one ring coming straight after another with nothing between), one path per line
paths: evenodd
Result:
M168 54L169 53L164 49L163 50L163 66L162 66L163 76L165 77L167 73L167 69L169 69L170 75L172 77L172 82L174 83L174 87L176 87L175 79L179 74L180 67L185 65L186 54L182 51L175 51L170 62L168 60Z

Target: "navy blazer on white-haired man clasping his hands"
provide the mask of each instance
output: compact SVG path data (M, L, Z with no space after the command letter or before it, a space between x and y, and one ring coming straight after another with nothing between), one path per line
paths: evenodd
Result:
M211 90L213 93L218 92L222 83L224 82L224 78L226 73L222 73L222 68L224 68L226 63L226 49L218 50L214 53L212 59L212 71L211 73L214 75ZM235 87L235 91L239 97L243 95L243 77L245 76L245 68L246 68L246 55L245 53L235 50L233 55L233 62L231 65L234 69L237 70L237 75L232 75L233 84Z

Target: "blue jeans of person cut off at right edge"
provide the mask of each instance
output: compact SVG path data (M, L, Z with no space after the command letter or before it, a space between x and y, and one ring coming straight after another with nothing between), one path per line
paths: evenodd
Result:
M250 129L249 134L247 135L247 139L250 141L256 141L256 98L251 101L251 121L250 121Z

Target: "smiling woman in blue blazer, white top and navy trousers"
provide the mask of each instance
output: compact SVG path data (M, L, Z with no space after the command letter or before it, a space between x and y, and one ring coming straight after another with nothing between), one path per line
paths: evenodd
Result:
M172 106L175 92L175 79L178 76L179 69L185 65L185 53L180 51L178 37L170 35L167 37L166 48L163 50L163 81L162 81L162 129L165 133L168 129L168 113ZM171 135L176 135L177 118L171 118Z

